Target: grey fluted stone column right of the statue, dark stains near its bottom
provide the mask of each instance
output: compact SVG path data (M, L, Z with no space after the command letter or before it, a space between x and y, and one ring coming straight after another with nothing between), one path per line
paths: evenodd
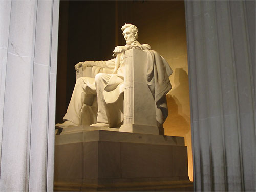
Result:
M196 191L255 191L255 2L186 1Z

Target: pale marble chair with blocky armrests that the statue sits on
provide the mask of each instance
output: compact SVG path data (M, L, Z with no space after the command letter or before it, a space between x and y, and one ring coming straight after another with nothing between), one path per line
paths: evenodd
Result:
M162 125L159 125L156 121L155 100L147 86L146 59L147 54L141 50L130 49L125 51L123 125L119 131L164 134ZM82 66L78 68L76 79L79 77L95 77L97 73L112 73L112 70L96 66ZM93 106L95 106L95 103ZM90 118L97 118L95 110L89 112L91 112ZM87 115L89 114L87 113Z

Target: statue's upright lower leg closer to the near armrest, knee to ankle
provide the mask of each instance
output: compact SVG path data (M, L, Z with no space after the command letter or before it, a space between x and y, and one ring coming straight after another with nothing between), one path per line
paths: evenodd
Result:
M97 122L109 124L108 116L106 114L106 103L103 97L103 91L105 86L108 84L112 74L97 74L95 76L95 87L97 92L97 99L98 99L98 116Z

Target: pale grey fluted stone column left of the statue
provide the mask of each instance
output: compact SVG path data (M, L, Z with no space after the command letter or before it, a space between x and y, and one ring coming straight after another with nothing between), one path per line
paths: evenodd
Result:
M1 191L53 190L58 9L0 2Z

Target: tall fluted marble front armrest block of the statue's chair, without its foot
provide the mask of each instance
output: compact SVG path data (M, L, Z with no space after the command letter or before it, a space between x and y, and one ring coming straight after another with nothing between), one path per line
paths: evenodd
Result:
M148 89L146 80L145 61L147 54L140 50L131 49L125 52L124 59L124 95L129 97L125 98L124 96L124 125L127 115L132 117L129 124L156 126L155 100ZM125 94L126 92L127 94ZM128 113L125 113L126 108L130 109Z

